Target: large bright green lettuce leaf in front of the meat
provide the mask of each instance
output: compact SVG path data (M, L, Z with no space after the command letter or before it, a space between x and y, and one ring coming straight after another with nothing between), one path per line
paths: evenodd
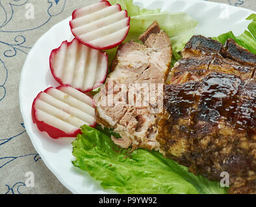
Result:
M108 135L97 129L87 125L81 129L83 134L72 143L76 158L73 165L88 171L105 189L135 194L226 193L218 182L195 176L156 151L131 152L116 146Z

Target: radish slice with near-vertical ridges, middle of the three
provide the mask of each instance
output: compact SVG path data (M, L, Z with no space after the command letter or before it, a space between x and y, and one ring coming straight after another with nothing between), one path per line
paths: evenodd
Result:
M51 73L60 84L70 85L86 93L105 82L108 72L108 56L73 39L64 41L51 52Z

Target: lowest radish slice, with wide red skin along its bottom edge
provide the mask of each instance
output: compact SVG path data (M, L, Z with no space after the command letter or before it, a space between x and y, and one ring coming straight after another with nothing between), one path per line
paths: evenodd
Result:
M94 100L77 89L49 87L34 99L32 120L52 138L75 137L82 125L96 126L94 107Z

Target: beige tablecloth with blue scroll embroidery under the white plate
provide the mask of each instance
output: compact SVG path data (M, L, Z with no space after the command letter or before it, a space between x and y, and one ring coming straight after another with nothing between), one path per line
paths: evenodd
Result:
M75 8L94 1L0 0L0 193L70 193L45 167L25 132L19 111L19 78L36 40ZM256 10L255 0L212 1ZM34 19L26 19L31 5ZM27 172L34 173L34 188L25 186Z

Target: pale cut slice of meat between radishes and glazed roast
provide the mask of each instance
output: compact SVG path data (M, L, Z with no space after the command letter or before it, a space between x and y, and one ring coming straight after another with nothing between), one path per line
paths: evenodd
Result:
M172 60L172 46L166 32L162 31L155 21L140 36L144 45L133 41L124 43L118 48L116 58L112 63L112 72L107 78L105 86L97 94L96 119L97 123L114 129L122 138L114 138L114 142L124 148L129 146L144 147L159 150L157 135L157 107L158 87L165 82L170 72ZM122 86L120 86L122 83ZM134 105L131 99L145 101L147 98L131 96L129 86L139 83L143 87L146 83L161 83L150 87L147 94L155 95L155 102L145 105ZM114 85L114 88L110 87ZM118 86L119 85L119 86ZM134 84L135 90L137 86ZM123 89L125 88L125 89ZM126 98L125 95L127 95ZM112 97L113 96L113 97ZM114 102L112 100L114 99ZM106 101L107 100L107 101ZM107 104L106 104L107 102ZM162 103L162 100L161 100Z

